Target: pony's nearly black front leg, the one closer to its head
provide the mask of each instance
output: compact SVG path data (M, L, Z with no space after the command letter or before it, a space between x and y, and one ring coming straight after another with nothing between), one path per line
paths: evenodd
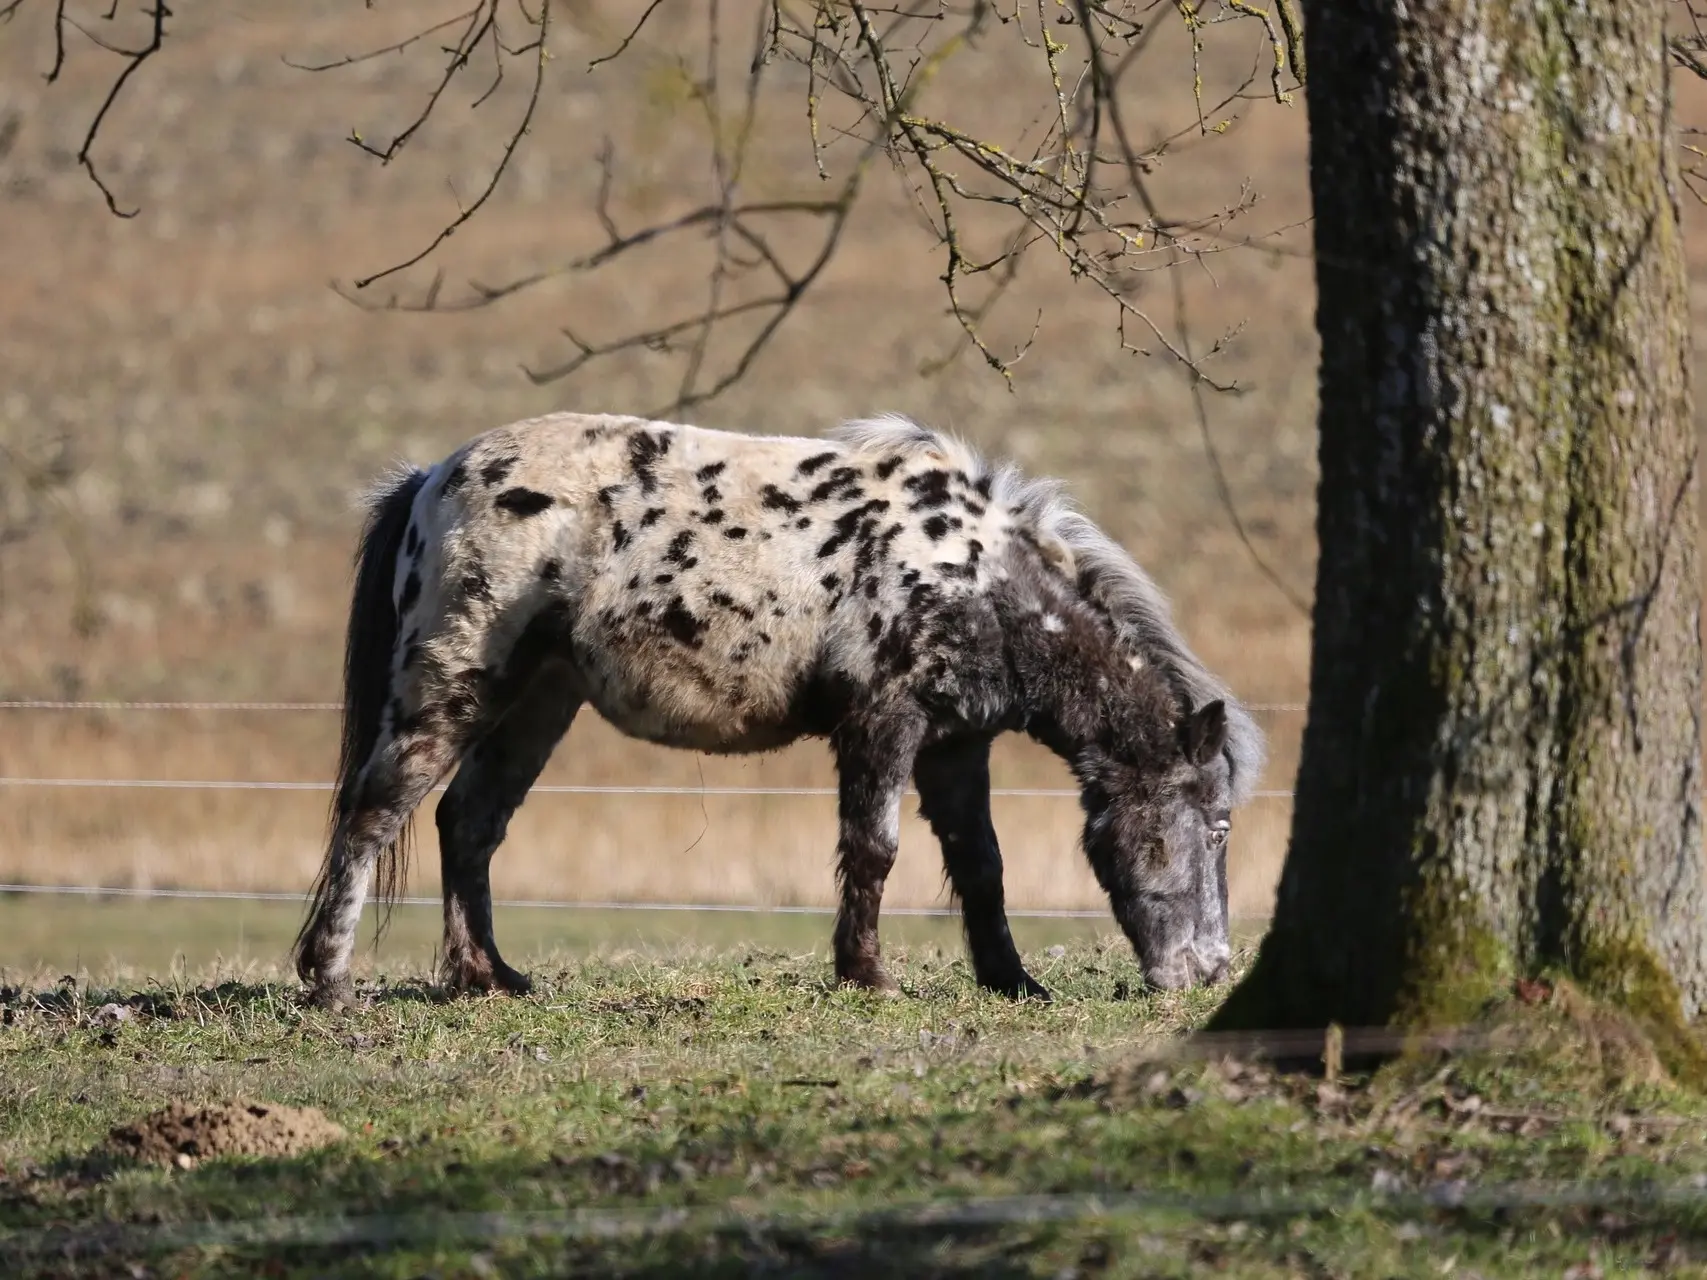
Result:
M980 986L1002 995L1048 1000L1026 973L1007 932L1002 850L990 821L990 739L941 742L913 765L918 809L942 845L942 865L961 903L966 949Z

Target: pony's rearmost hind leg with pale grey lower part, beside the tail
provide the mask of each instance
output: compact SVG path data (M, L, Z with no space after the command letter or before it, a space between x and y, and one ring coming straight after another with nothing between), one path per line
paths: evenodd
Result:
M348 998L350 952L374 864L386 853L403 857L405 826L456 763L464 732L466 719L447 715L439 701L405 715L401 725L387 722L381 729L333 831L326 874L297 945L297 973L309 983L314 1004Z

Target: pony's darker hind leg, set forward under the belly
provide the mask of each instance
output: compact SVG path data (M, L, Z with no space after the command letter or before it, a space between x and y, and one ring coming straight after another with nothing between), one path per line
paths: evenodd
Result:
M509 715L463 756L439 802L444 981L452 990L526 995L533 988L526 975L498 956L492 934L492 855L579 708L580 695L568 674L541 671Z

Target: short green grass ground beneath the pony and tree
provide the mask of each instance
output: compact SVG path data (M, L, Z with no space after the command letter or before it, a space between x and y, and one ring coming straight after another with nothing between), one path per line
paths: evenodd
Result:
M980 995L958 947L891 956L908 997L888 1002L831 988L821 954L765 947L604 949L536 968L529 1000L446 1004L394 976L338 1015L278 981L7 990L0 1261L10 1275L1702 1273L1707 1113L1613 1063L1567 1004L1535 1012L1540 1039L1326 1084L1178 1055L1215 993L1130 995L1116 939L1029 956L1052 1005ZM131 1015L102 1012L125 998ZM348 1138L188 1169L102 1147L171 1099L225 1097L316 1106ZM1588 1203L1485 1203L1512 1188ZM169 1234L287 1219L311 1236ZM26 1254L48 1231L55 1249Z

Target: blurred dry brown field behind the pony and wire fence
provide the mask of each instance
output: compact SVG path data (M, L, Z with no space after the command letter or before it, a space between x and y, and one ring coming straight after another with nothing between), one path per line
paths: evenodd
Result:
M454 104L391 167L343 142L406 119L434 67L386 58L306 75L316 58L394 36L355 5L184 3L172 44L126 89L99 147L135 220L113 218L73 155L111 63L84 51L48 89L48 7L0 27L0 442L48 463L68 451L51 498L56 531L0 546L0 696L336 696L348 551L360 486L394 457L432 459L485 427L553 408L635 411L667 403L667 364L633 353L568 382L531 386L519 364L565 353L562 326L611 333L702 287L690 253L635 258L514 302L459 316L369 314L331 280L408 254L473 189L502 142L505 89L480 113ZM630 19L621 3L570 5L562 72L534 135L480 218L446 246L449 280L498 278L601 241L592 215L609 135L623 160L616 213L657 217L705 181L703 125L673 55L690 26L652 27L621 63L580 75ZM1169 20L1168 10L1154 19ZM1205 87L1267 56L1255 27L1205 48ZM953 61L935 92L1011 126L1026 51L990 39ZM1152 137L1195 119L1183 29L1168 27L1135 87ZM782 82L778 82L782 84ZM1683 85L1685 94L1693 87ZM966 104L971 104L970 108ZM1688 106L1688 102L1685 104ZM797 85L768 108L751 181L811 186ZM495 118L497 125L486 123ZM1157 200L1209 212L1260 203L1238 234L1308 215L1302 106L1246 101L1231 126L1188 135L1157 167ZM1692 229L1700 215L1692 212ZM1210 396L1227 483L1251 539L1290 589L1313 577L1314 329L1308 232L1217 254L1188 275L1207 345L1241 396ZM1215 488L1176 365L1120 348L1106 300L1038 256L992 341L1036 343L1012 391L953 350L941 263L908 191L876 183L840 258L751 375L695 411L707 425L811 432L877 410L913 413L990 451L1063 476L1075 497L1171 592L1205 659L1255 701L1297 701L1308 620L1241 546ZM1697 273L1698 278L1700 271ZM420 276L425 280L425 276ZM1154 295L1169 307L1168 290ZM698 297L698 294L693 294ZM89 570L79 608L79 556ZM318 780L335 754L324 713L0 712L0 775ZM1287 788L1302 717L1267 717L1267 785ZM823 749L700 759L620 739L586 717L545 782L824 785ZM997 785L1062 787L1065 771L1004 744ZM0 877L299 889L319 858L319 794L0 788ZM823 903L831 802L823 797L541 795L495 867L505 896ZM1077 807L999 800L1017 906L1096 906L1074 855ZM1234 836L1234 910L1267 910L1284 848L1284 800L1258 800ZM430 821L427 874L435 860ZM889 901L941 901L918 824L903 836Z

